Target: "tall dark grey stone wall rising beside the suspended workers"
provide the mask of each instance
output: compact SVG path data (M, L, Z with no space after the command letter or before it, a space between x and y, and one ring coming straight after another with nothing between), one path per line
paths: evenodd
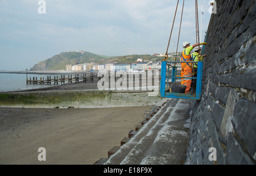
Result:
M216 3L185 164L256 164L256 4Z

